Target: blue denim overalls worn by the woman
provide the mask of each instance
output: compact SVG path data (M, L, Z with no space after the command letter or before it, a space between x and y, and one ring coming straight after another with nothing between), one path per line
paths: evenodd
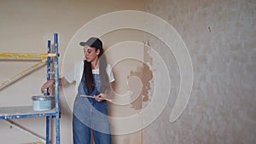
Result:
M73 144L90 144L90 130L96 144L112 143L107 102L80 96L100 94L97 90L101 85L99 74L93 74L93 77L96 87L90 94L84 85L84 75L79 84L79 93L73 105Z

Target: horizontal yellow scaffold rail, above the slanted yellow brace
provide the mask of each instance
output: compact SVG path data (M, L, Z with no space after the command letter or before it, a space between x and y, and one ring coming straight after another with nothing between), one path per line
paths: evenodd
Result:
M26 60L44 60L47 57L55 57L57 54L45 53L0 53L0 60L15 60L15 59L26 59Z

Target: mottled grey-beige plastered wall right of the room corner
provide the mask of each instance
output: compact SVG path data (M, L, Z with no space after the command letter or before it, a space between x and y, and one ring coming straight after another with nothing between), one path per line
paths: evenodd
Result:
M160 117L143 130L143 143L256 143L256 1L148 0L146 10L183 37L194 86L183 115L170 123L179 89L177 62L148 37L170 64L172 91Z

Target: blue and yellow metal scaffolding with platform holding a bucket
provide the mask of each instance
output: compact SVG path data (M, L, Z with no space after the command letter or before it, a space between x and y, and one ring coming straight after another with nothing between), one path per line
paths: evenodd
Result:
M22 130L33 137L37 138L39 141L49 144L49 118L55 119L55 142L60 144L60 102L59 102L59 53L58 53L58 34L54 35L54 52L52 53L51 43L48 41L48 53L46 54L36 54L36 53L0 53L0 60L39 60L39 62L33 66L30 66L26 70L19 72L15 76L4 81L0 85L0 91L13 84L16 80L26 76L26 74L36 70L39 66L44 66L47 62L47 80L49 80L50 75L54 76L55 79L55 108L49 111L33 111L32 107L0 107L0 119L3 119L7 124L15 126L15 128ZM53 61L51 61L53 59ZM54 65L54 72L51 72L51 66ZM49 95L49 89L47 89L47 95ZM46 118L46 134L45 139L39 135L32 133L26 128L15 124L15 122L10 119L15 118Z

